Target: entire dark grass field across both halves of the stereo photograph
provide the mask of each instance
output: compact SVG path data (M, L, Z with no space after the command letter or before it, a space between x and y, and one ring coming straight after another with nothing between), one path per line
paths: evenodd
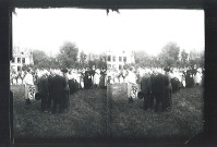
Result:
M124 90L80 90L70 97L70 111L40 112L40 101L26 107L22 86L12 86L14 138L160 138L189 139L203 130L203 88L181 89L172 95L173 108L155 113L143 110L143 100L128 103ZM118 91L116 94L114 89ZM108 87L108 91L109 91ZM107 109L107 96L110 109ZM118 97L118 98L114 98ZM122 98L121 98L122 97ZM107 110L110 117L107 115ZM108 119L109 118L109 119Z

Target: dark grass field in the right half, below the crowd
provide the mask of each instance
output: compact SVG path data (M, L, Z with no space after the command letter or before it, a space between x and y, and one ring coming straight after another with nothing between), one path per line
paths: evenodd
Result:
M116 89L112 87L112 89ZM122 93L121 93L122 91ZM172 138L186 140L203 131L203 88L181 89L172 95L172 110L144 111L143 99L129 103L122 90L111 99L112 138ZM118 98L116 97L118 96Z

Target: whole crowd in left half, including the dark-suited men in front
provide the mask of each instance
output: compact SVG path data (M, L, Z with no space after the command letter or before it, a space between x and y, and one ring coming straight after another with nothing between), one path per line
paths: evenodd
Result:
M19 76L19 77L17 77ZM21 82L16 83L17 77ZM15 81L15 82L14 82ZM33 100L41 100L41 111L62 112L69 108L70 95L79 89L106 88L106 70L99 69L62 69L35 70L27 69L16 75L12 72L11 84L25 87L25 105Z

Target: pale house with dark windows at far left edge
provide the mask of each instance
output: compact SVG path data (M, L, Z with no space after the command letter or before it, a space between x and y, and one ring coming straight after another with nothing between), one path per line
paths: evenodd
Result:
M27 48L13 48L13 58L11 60L11 70L21 71L24 64L34 64L33 52Z

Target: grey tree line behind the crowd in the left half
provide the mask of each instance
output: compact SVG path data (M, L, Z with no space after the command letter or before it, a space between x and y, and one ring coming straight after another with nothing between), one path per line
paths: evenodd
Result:
M106 68L106 54L99 54L98 58L93 58L87 60L88 56L96 54L86 54L84 51L80 51L75 44L64 42L60 47L60 51L57 56L51 57L45 53L41 50L33 50L33 60L34 64L24 65L23 70L27 68L33 69L83 69L92 68Z

